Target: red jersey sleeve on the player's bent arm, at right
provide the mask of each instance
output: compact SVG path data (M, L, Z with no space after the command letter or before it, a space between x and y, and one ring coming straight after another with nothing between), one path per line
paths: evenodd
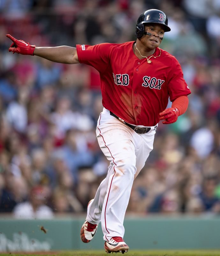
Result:
M186 81L183 78L183 71L176 58L172 58L172 67L168 74L168 92L170 100L188 95L191 93Z

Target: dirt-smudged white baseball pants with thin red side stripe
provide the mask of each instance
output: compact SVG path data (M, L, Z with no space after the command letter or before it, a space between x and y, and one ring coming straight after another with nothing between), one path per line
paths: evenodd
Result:
M106 108L99 116L96 134L110 165L88 206L86 219L92 224L101 222L106 241L124 236L123 221L132 184L153 149L155 132L152 126L150 132L138 134L111 116Z

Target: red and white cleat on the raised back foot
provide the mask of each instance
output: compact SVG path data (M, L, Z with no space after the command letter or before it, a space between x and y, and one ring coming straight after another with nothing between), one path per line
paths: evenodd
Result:
M88 206L92 201L93 199L89 201ZM98 225L99 224L92 224L88 220L85 220L80 230L80 238L84 243L89 243L92 240L92 238L95 236Z

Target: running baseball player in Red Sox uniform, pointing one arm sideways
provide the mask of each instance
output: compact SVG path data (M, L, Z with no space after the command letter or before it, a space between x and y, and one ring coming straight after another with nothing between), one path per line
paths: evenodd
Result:
M90 242L101 222L107 253L128 252L123 240L124 216L133 181L153 149L159 120L174 123L188 106L191 92L179 62L159 48L164 33L170 30L165 13L151 9L137 20L136 42L36 47L6 35L13 41L10 52L60 63L84 63L100 73L104 108L96 134L110 165L88 204L80 236L84 243ZM169 97L172 107L166 108Z

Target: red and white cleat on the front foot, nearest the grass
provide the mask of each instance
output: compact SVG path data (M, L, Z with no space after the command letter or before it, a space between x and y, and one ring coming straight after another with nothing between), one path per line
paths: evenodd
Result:
M125 241L119 236L112 237L109 242L105 241L104 248L107 253L121 252L123 254L128 252L129 249L128 245L125 244Z

